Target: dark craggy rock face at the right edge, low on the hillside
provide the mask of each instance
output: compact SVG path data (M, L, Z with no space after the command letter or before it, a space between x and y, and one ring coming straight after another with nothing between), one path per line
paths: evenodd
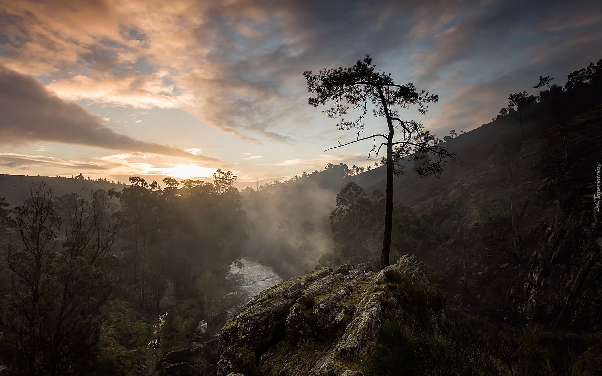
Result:
M602 225L597 217L568 215L529 230L536 242L524 247L526 262L508 291L523 321L600 329Z

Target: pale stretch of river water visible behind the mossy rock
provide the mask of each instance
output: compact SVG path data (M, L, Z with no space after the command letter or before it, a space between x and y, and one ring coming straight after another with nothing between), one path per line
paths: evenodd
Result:
M228 273L240 280L238 288L246 294L245 304L256 297L259 292L282 282L282 277L270 267L247 259L241 259L241 262L244 267L239 268L232 264Z

